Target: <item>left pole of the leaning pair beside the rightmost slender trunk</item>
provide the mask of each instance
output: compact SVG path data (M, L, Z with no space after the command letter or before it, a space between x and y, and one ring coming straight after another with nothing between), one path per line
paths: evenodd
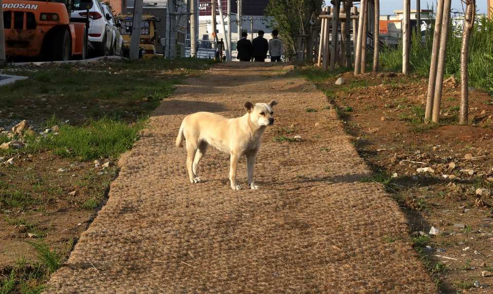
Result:
M442 34L443 2L444 0L438 1L437 19L435 20L435 28L433 32L433 49L431 51L431 65L430 65L430 74L428 79L428 92L426 94L425 122L428 122L430 120L431 112L433 111L433 98L435 96L435 81L437 80L438 51L440 46L440 37Z

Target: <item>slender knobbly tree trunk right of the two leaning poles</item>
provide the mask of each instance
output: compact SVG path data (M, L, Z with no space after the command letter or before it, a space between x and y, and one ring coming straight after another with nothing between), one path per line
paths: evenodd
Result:
M461 112L459 124L467 124L469 112L469 39L471 30L474 26L474 12L476 11L476 1L468 0L466 12L464 14L464 25L462 26L462 47L461 47Z

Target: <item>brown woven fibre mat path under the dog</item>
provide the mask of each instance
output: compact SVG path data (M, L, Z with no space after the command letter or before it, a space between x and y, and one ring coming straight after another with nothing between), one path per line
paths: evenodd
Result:
M49 292L435 292L399 207L361 182L370 171L325 95L283 75L289 69L221 64L180 86L121 159L107 204ZM212 148L205 182L190 184L185 149L174 147L184 115L234 117L247 100L272 99L276 124L255 169L261 190L231 190L229 156ZM295 135L301 141L275 140Z

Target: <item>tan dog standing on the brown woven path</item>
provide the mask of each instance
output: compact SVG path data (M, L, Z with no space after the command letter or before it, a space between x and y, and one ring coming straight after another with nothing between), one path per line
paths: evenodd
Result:
M210 112L197 112L187 115L176 138L176 146L183 146L186 140L186 169L191 183L202 180L197 175L197 166L205 154L209 144L218 150L231 155L230 181L233 190L239 190L236 182L236 166L238 159L247 156L248 186L258 189L253 181L255 157L260 148L260 138L267 125L274 124L272 108L275 100L269 103L246 102L247 113L241 117L227 119Z

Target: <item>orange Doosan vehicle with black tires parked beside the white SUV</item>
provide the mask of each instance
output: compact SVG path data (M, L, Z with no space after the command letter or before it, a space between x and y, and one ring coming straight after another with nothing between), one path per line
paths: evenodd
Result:
M90 9L90 0L4 0L4 32L8 58L85 59L88 22L70 21L70 10ZM79 8L80 9L80 8Z

